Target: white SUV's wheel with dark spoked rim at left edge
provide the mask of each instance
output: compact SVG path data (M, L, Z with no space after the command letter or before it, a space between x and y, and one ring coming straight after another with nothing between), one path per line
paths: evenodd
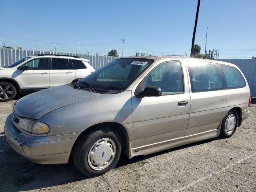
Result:
M17 94L16 88L8 82L0 82L0 102L13 100Z

